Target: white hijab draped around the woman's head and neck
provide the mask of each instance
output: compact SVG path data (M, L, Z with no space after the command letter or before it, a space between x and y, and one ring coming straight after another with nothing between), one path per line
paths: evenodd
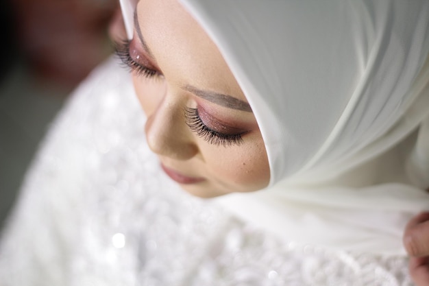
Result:
M217 199L284 239L404 253L428 209L429 1L180 0L245 93L266 190Z

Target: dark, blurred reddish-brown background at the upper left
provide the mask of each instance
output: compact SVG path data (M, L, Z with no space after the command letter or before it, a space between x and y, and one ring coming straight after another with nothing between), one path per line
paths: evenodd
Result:
M0 2L0 228L69 93L112 53L117 0Z

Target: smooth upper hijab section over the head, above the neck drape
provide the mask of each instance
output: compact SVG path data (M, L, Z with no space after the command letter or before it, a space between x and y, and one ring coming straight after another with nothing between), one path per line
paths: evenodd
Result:
M429 2L184 0L230 65L265 141L271 185L386 133L429 49Z

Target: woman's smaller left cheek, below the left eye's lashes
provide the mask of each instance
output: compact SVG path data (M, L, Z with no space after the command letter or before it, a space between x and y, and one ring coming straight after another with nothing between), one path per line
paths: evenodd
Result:
M167 84L162 79L149 79L138 75L133 75L132 80L138 101L149 117L162 102L167 91Z

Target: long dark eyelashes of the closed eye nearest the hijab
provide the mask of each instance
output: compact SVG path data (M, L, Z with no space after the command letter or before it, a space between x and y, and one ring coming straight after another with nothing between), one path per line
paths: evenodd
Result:
M241 145L243 138L241 134L222 134L208 128L198 115L197 108L185 108L186 125L191 128L202 139L213 145Z

